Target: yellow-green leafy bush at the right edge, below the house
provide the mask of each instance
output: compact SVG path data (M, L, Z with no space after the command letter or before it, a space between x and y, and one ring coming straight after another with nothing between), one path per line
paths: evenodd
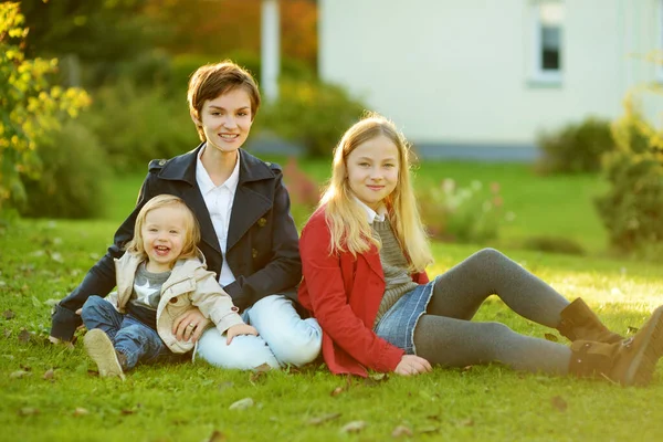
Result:
M663 252L663 143L627 99L625 114L613 126L617 150L603 162L610 183L597 199L610 243L643 257Z

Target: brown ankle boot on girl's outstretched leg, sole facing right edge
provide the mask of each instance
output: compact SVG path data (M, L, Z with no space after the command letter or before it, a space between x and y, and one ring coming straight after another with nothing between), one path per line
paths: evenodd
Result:
M603 375L622 386L646 386L663 356L663 306L629 339L614 344L576 340L571 351L569 373Z

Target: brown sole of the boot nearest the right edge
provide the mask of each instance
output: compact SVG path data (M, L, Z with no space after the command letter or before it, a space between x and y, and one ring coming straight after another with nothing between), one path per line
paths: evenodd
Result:
M663 356L663 306L654 311L648 330L642 332L648 335L627 370L623 380L627 386L646 386L652 380L656 362Z

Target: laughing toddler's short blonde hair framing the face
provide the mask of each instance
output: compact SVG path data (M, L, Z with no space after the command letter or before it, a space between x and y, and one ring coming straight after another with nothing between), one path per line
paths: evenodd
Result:
M173 194L158 194L151 198L138 212L138 217L136 217L136 224L134 227L134 238L131 241L126 243L125 250L129 253L133 253L140 259L145 259L147 253L145 252L145 248L143 246L143 225L145 224L145 219L147 214L155 209L160 209L164 207L176 207L179 208L185 215L185 240L182 241L182 252L179 257L194 257L197 256L197 245L200 242L200 228L198 227L198 220L196 215L189 209L187 203L179 197Z

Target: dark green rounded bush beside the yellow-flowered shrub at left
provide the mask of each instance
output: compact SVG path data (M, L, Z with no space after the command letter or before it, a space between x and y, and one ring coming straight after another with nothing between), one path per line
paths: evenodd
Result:
M27 201L19 207L31 218L97 218L104 214L110 175L98 139L78 120L38 144L43 161L39 180L25 181Z

